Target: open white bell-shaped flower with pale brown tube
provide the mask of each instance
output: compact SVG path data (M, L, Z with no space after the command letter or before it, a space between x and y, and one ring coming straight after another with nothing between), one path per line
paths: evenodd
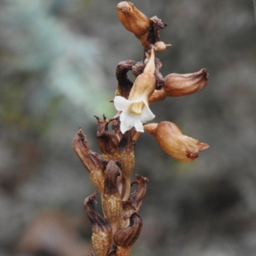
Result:
M156 88L154 56L154 50L152 49L150 60L143 73L135 79L128 100L121 96L116 96L114 99L115 108L122 111L120 115L120 130L122 133L133 126L136 131L143 132L143 123L155 117L148 107L148 99Z

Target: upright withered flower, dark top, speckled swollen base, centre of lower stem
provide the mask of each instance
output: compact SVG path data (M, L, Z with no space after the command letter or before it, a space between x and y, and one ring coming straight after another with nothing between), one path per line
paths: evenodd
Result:
M102 207L104 214L112 228L112 234L116 232L116 221L120 217L122 208L121 194L117 186L117 178L121 174L120 168L114 159L106 161L104 193L102 196Z

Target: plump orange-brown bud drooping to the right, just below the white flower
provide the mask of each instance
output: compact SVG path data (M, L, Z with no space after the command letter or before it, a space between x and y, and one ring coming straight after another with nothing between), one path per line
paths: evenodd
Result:
M209 148L208 144L183 135L179 127L171 122L148 124L144 129L156 138L168 155L182 162L193 161L199 152Z

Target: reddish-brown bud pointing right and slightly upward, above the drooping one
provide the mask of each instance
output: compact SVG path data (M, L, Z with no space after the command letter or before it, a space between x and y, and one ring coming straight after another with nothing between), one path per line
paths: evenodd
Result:
M166 97L179 97L198 92L208 83L206 68L192 74L169 74L164 77L164 86L161 90L155 90L149 102L163 100Z

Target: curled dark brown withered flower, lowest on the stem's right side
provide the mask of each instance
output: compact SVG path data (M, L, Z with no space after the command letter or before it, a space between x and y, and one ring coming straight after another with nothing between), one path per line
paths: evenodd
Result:
M125 216L125 218L129 218L130 225L127 228L118 230L115 233L114 241L117 246L132 246L140 236L141 228L142 228L142 220L140 214L134 211L129 216Z

